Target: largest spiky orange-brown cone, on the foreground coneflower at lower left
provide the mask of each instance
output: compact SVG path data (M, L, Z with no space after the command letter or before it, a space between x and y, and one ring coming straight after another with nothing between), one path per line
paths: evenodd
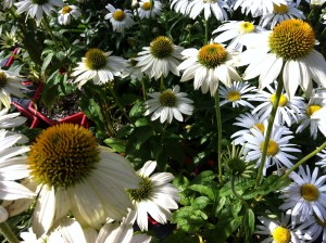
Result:
M66 189L89 176L100 161L99 153L97 140L89 130L60 124L37 137L27 159L37 183Z

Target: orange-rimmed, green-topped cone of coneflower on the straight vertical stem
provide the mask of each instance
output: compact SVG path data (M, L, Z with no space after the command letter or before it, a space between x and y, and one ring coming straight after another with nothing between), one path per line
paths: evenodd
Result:
M198 52L198 62L206 68L215 68L227 59L225 48L220 43L209 43Z

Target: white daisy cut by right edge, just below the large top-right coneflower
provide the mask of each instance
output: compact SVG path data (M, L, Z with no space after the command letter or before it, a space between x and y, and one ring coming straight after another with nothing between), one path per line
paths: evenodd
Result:
M306 127L310 128L310 135L313 139L317 138L318 130L324 133L326 124L326 97L323 92L315 92L309 100L308 105L304 105L302 116L298 122L300 125L296 132L303 131Z

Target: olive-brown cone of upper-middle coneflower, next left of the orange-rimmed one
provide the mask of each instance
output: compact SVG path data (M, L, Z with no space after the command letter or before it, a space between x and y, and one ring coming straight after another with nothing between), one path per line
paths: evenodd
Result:
M173 42L165 36L159 36L150 43L150 52L156 59L164 59L171 55L173 51Z

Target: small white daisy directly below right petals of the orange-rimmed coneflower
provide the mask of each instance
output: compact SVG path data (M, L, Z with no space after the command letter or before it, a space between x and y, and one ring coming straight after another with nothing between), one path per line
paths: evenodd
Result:
M227 103L231 103L234 108L239 106L254 108L254 106L250 104L246 99L255 97L255 94L249 92L256 91L256 88L251 87L247 81L234 81L230 87L221 86L218 91L222 99L220 105L222 106Z

